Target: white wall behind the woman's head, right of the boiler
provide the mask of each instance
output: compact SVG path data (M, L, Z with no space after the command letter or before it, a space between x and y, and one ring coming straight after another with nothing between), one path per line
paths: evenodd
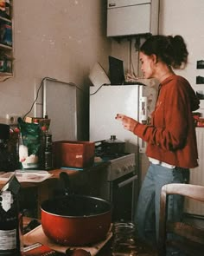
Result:
M204 69L196 69L196 62L204 59L204 1L203 0L161 0L160 33L164 35L182 35L188 47L188 66L176 71L183 75L194 90L202 90L204 84L196 85L196 76L204 76ZM204 116L204 100L200 112Z

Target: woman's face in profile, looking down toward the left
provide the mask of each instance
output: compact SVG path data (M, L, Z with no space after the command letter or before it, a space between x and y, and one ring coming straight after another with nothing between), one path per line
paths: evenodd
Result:
M146 56L143 52L139 53L139 60L141 62L141 70L143 78L155 77L155 56Z

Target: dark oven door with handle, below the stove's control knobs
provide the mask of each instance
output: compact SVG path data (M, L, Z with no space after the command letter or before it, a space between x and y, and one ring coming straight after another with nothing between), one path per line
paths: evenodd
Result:
M132 221L137 199L137 174L126 174L110 182L112 221Z

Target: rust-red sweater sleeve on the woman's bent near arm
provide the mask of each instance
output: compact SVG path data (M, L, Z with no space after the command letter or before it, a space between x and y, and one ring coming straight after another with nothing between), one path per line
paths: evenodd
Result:
M137 123L134 134L164 150L183 148L191 115L186 84L169 82L161 89L150 126Z

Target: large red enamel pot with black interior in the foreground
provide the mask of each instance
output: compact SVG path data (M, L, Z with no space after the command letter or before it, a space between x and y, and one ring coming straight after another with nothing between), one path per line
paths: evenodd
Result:
M41 204L41 226L50 240L85 246L105 240L112 221L112 204L86 195L65 195Z

